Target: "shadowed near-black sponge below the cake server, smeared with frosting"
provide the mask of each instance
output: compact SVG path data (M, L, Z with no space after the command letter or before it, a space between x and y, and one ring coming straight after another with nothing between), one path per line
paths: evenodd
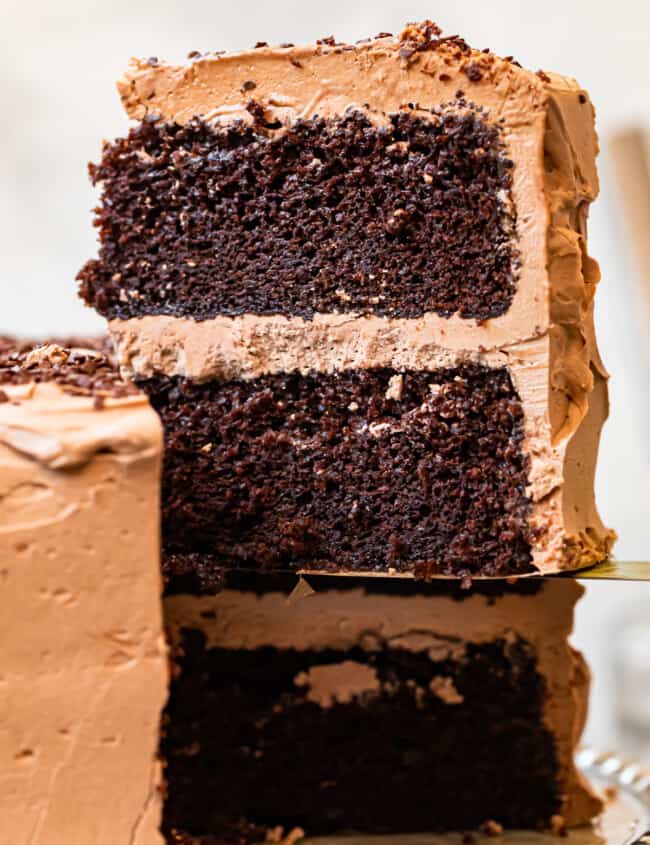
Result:
M179 653L161 745L168 837L239 842L253 832L242 817L254 820L251 841L263 841L260 829L276 825L316 835L457 830L498 808L501 824L534 828L559 812L546 688L520 639L469 645L459 662L387 644L209 648L187 631ZM346 663L370 689L330 707L314 701L310 673Z

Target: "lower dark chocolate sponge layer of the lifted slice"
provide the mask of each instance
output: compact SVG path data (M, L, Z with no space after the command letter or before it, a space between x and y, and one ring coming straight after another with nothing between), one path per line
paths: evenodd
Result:
M165 429L172 578L192 560L206 586L224 568L531 569L522 410L505 369L141 386Z

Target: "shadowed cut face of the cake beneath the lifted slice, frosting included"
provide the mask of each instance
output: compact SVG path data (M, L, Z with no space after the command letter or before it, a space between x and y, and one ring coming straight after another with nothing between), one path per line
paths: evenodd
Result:
M572 757L589 682L567 644L581 588L385 591L167 599L168 841L539 828L598 812Z

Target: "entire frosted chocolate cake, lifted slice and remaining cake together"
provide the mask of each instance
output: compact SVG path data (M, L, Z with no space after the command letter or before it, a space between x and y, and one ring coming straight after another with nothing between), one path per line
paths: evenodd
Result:
M515 577L613 541L587 94L430 22L119 90L117 358L0 338L2 834L589 822L582 588Z

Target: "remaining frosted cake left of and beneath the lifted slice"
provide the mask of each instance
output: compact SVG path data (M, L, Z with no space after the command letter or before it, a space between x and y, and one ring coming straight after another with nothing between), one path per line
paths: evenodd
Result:
M162 426L103 349L0 339L12 841L255 845L599 812L573 763L589 674L567 642L572 580L468 591L225 568L209 594L209 556L181 572L167 555L161 613ZM486 404L481 371L463 378Z

